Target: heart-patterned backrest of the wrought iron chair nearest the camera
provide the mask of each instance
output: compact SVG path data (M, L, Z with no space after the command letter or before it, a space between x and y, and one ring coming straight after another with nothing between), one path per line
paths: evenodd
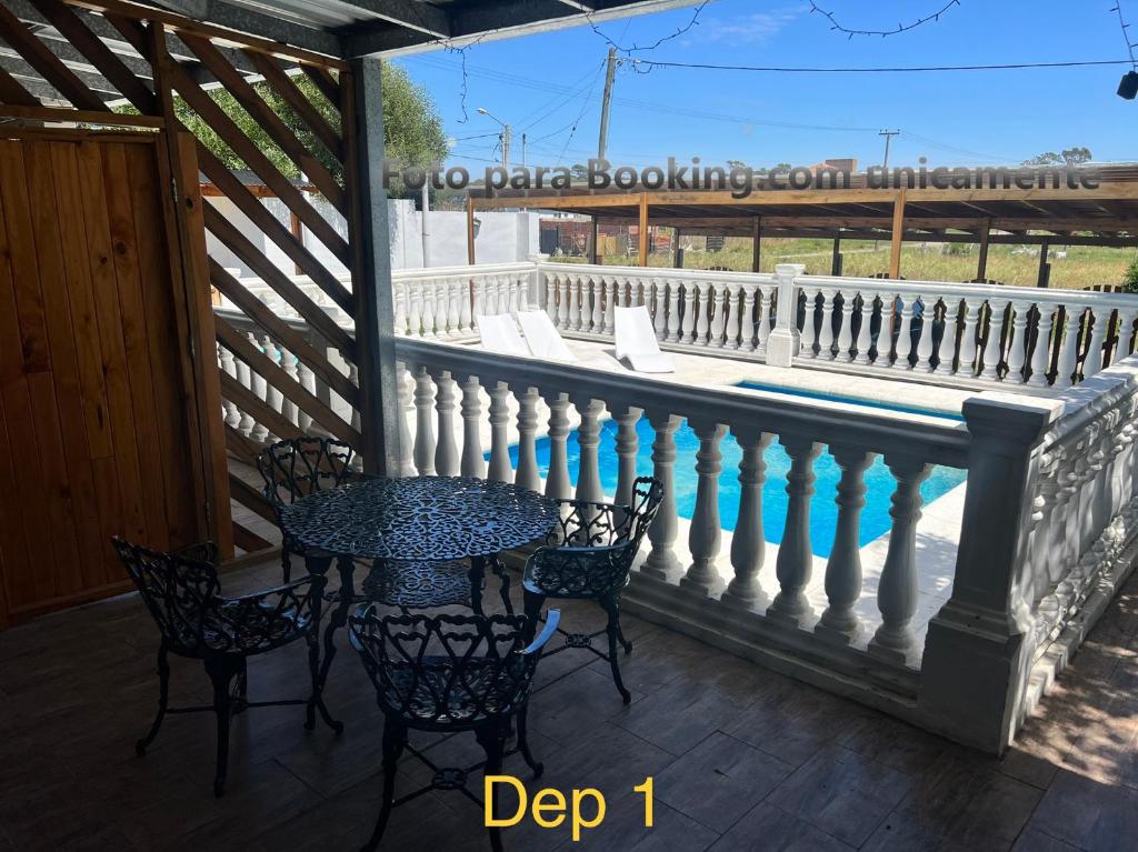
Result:
M552 613L551 613L552 615ZM379 705L420 728L468 728L508 717L529 695L541 647L525 615L385 615L349 619L352 644Z

